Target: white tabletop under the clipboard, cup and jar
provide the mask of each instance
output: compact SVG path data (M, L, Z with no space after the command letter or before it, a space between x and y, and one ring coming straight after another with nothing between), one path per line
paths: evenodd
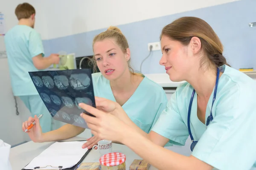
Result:
M65 141L74 141L74 140L85 140L81 137L73 137ZM35 143L27 142L21 144L17 147L11 148L10 151L10 162L12 165L12 170L21 170L26 164L32 161L33 158L38 156L43 152L47 147L49 147L53 142L44 142L44 143ZM122 144L113 143L112 152L121 152L126 156L126 170L129 170L134 159L141 159L136 153L134 153L130 148ZM91 150L90 153L85 157L83 162L99 162L100 154L98 150ZM153 166L149 170L156 170Z

